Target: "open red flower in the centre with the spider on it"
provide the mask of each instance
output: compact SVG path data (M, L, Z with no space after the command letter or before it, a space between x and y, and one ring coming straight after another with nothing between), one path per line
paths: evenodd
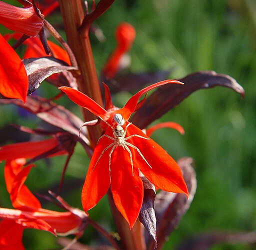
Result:
M110 185L117 209L132 228L143 200L140 172L156 187L188 196L177 163L163 148L128 121L140 96L168 83L182 84L177 80L154 83L134 94L122 108L112 105L109 89L105 85L107 110L76 89L60 87L73 102L97 115L105 129L94 149L82 188L81 201L85 212L96 205Z

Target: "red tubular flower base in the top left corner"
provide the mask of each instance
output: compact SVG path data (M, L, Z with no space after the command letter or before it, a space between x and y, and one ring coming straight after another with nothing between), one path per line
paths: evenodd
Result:
M32 3L24 0L20 2L24 8L0 1L0 23L8 29L28 36L37 35L43 25L42 19L34 11Z

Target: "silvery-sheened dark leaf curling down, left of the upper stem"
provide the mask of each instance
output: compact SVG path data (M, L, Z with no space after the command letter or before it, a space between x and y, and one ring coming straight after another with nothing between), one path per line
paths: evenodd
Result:
M28 76L27 95L35 91L40 83L50 75L65 70L76 70L66 62L55 57L27 58L22 60Z

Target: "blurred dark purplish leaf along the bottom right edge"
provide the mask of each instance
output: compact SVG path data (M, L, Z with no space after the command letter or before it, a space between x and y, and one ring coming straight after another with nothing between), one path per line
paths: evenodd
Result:
M177 250L204 250L220 243L255 244L256 232L207 232L192 236L177 246ZM255 246L255 245L254 245ZM230 248L231 249L231 248ZM247 249L247 248L246 248ZM253 245L251 248L254 249Z

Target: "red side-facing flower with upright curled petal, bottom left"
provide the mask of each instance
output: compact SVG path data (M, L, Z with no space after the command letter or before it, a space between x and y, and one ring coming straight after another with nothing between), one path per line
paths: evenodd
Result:
M6 188L16 209L0 207L0 248L24 249L22 233L25 228L46 230L55 236L79 234L84 228L85 213L67 204L66 212L41 208L38 199L24 185L32 167L24 167L24 164L25 158L19 158L7 160L4 166ZM61 199L59 201L64 203Z

